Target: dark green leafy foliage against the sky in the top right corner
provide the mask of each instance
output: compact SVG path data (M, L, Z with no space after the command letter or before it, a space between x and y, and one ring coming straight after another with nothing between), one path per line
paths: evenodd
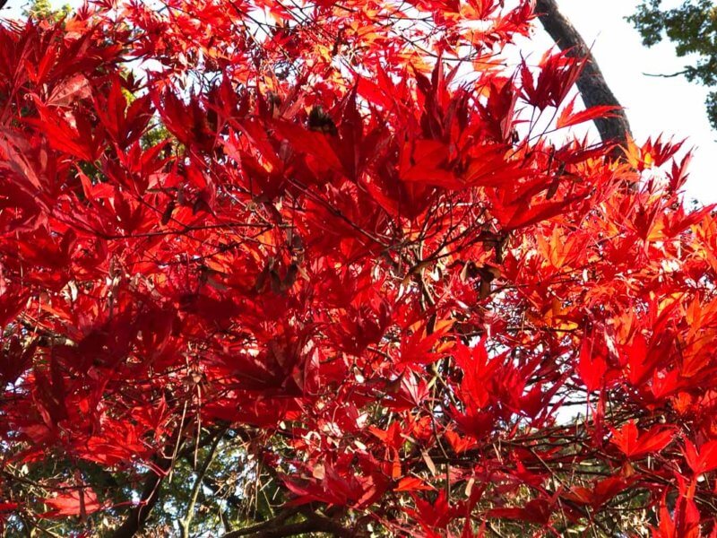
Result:
M680 57L690 64L678 74L688 81L717 87L717 5L713 0L685 0L673 9L661 6L661 0L643 0L637 12L627 20L635 25L647 47L667 38L675 44ZM717 91L706 100L707 114L717 129Z

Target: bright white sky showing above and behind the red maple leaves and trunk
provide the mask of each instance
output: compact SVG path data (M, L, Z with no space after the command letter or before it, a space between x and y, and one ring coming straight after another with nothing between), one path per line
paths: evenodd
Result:
M24 0L9 0L4 16L21 13ZM79 4L78 0L54 0L53 4ZM678 0L663 0L669 7ZM707 121L704 99L707 90L682 77L655 78L648 74L670 74L685 62L674 53L669 41L644 48L640 36L625 17L635 12L638 0L558 0L558 4L583 39L592 45L593 56L623 107L638 143L648 136L687 138L695 156L687 181L687 196L703 204L717 203L717 132ZM540 25L529 43L537 54L552 46ZM529 51L524 50L523 56ZM540 57L540 56L539 56Z

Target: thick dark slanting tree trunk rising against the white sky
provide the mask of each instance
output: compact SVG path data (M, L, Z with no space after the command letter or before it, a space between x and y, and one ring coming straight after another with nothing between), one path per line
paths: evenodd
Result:
M535 13L538 14L543 28L561 50L569 50L569 56L586 59L583 74L577 81L577 88L585 107L598 105L620 107L618 99L609 89L608 83L605 82L605 77L592 56L590 48L585 44L580 33L575 30L573 24L566 19L563 13L560 13L556 0L537 0ZM632 135L630 124L622 108L614 117L596 119L595 126L600 133L600 139L606 143L618 143L625 146L628 136Z

